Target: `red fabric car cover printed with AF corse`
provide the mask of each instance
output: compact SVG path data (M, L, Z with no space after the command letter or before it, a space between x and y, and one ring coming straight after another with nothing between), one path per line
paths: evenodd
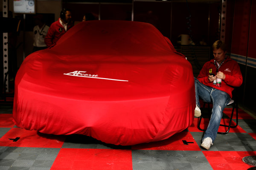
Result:
M15 78L13 120L41 133L153 142L190 126L194 110L191 64L148 23L79 23Z

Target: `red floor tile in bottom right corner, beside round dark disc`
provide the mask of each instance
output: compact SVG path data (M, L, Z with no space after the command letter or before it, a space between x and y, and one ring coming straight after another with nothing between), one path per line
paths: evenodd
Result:
M202 151L213 170L247 170L252 167L242 161L244 156L255 156L256 151Z

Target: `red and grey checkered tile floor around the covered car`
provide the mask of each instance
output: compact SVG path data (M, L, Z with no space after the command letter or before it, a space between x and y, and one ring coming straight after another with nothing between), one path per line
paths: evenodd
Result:
M231 108L225 108L228 118ZM201 127L207 127L204 118ZM224 119L226 122L226 119ZM239 126L200 147L203 132L191 127L169 139L134 146L105 144L82 135L55 136L18 128L12 106L0 106L0 170L247 170L256 156L256 120L239 109ZM233 122L234 123L234 122ZM220 127L219 131L225 127Z

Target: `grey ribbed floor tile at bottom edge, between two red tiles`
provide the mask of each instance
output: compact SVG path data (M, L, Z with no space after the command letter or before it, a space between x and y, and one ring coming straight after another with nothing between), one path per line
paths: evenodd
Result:
M201 166L211 169L201 151L133 150L132 162L133 170L198 170Z

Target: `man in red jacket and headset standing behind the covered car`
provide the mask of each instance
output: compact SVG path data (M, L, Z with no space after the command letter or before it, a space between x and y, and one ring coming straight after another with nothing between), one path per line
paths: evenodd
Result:
M44 38L47 48L54 45L72 26L71 11L65 8L62 9L60 18L58 21L52 23L46 37Z

